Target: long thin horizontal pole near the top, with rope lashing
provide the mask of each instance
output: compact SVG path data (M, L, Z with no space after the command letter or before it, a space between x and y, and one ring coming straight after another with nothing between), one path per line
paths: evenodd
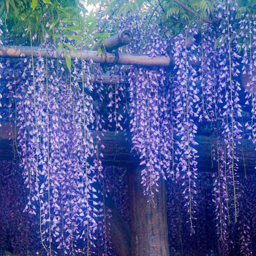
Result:
M33 47L32 53L34 57L46 56L45 49L41 47ZM106 53L107 59L104 55L98 54L97 51L82 51L82 58L86 61L92 60L95 63L109 63L114 64L116 62L116 56L113 53ZM31 49L29 46L0 46L0 57L30 57ZM72 51L70 52L71 59L77 58L77 55ZM58 53L60 59L65 59L65 56ZM47 58L54 58L51 54L51 49L48 48ZM81 53L78 52L78 58L81 58ZM154 58L148 55L131 54L131 53L119 53L118 64L122 65L140 65L140 66L169 66L170 57L159 55Z

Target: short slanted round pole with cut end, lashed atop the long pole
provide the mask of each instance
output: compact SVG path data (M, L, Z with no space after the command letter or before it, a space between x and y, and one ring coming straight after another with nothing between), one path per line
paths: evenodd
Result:
M128 29L123 29L119 33L106 38L104 42L104 46L106 48L106 51L111 52L114 49L117 49L119 47L129 44L131 40L132 40L131 31ZM95 46L93 47L93 50L97 51L99 46L100 46L100 42L95 44Z

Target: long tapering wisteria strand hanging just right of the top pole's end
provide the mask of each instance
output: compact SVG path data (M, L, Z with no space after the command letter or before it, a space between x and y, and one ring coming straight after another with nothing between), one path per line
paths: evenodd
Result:
M198 145L194 140L197 127L194 124L194 117L198 117L200 108L195 111L194 102L199 101L197 96L198 89L195 87L197 75L195 69L189 64L189 60L196 60L193 50L196 46L192 44L191 49L187 47L188 33L197 34L196 29L192 31L187 28L186 36L178 35L174 39L173 54L175 59L174 70L177 70L174 79L174 100L176 112L177 136L180 136L178 141L177 154L180 155L179 163L176 167L179 172L181 169L182 179L185 179L183 184L185 189L183 194L188 199L185 205L188 205L189 222L191 227L191 234L194 233L193 226L193 206L196 204L194 194L196 194L195 179L196 179L196 153L194 146ZM192 41L193 42L193 41Z

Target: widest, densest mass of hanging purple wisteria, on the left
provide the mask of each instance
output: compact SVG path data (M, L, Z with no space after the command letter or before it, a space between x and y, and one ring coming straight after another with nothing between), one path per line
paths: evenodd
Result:
M45 51L52 46L47 37L44 46ZM94 246L98 203L92 186L94 167L89 163L94 150L89 130L94 122L90 65L75 60L73 72L67 74L60 60L31 56L20 65L18 83L14 72L7 77L17 104L19 131L14 137L29 189L25 211L38 214L40 240L50 255L56 249L77 252L79 239L88 241L87 254Z

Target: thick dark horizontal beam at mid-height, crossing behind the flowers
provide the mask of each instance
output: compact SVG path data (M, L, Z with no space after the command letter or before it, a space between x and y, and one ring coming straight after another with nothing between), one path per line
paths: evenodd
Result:
M13 159L12 143L12 130L14 125L10 125L8 122L0 122L0 160ZM100 132L92 131L92 137L94 141L97 141L96 136L100 135ZM132 152L131 144L126 140L124 132L119 132L115 135L114 131L107 131L104 136L101 137L101 143L105 146L102 149L104 155L100 160L104 166L126 166L137 167L140 163L138 156ZM216 145L216 138L204 135L196 135L195 141L199 144L195 147L198 151L199 172L214 172L217 170L216 161L211 161L211 145ZM256 151L252 141L248 139L240 140L241 144L237 144L237 150L242 152L242 144L244 145L244 159L246 163L246 170L248 173L255 172L255 159ZM213 163L213 167L212 167ZM238 163L239 172L244 172L243 159L240 159Z

